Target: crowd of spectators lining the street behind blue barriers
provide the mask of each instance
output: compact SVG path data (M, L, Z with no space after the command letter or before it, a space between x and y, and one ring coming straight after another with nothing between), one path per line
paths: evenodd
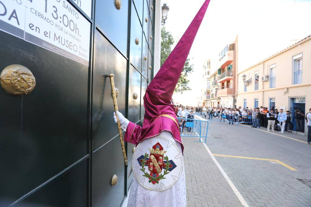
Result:
M251 108L226 108L226 107L192 107L183 105L174 105L176 109L177 117L181 118L179 121L179 126L185 128L185 123L187 119L194 119L194 114L200 114L205 116L205 118L211 119L213 116L220 118L220 123L229 122L229 124L239 123L239 124L252 124L252 128L267 128L267 131L275 132L275 130L280 133L291 132L294 124L292 123L292 113L283 109L275 109L272 107L270 111L267 107L260 106L254 110ZM296 130L304 132L304 119L306 119L308 124L308 143L311 144L311 109L304 115L298 107L294 107L294 116L296 121ZM184 118L184 119L182 119ZM188 127L187 131L191 132L192 128Z

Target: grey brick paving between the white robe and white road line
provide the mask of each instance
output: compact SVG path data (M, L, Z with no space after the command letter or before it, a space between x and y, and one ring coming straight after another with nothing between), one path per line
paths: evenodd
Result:
M183 138L187 205L242 206L203 143Z

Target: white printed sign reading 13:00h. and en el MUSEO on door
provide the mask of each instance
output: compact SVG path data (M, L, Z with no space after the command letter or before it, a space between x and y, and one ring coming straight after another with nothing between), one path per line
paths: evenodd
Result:
M89 65L91 23L67 1L0 0L0 29Z

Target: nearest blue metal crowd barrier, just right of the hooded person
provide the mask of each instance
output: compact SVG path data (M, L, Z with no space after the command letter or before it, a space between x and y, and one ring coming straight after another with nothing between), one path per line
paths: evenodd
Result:
M206 143L207 140L207 131L208 131L208 121L203 119L186 119L186 118L177 118L180 128L181 137L199 137L199 141L194 142L203 142Z

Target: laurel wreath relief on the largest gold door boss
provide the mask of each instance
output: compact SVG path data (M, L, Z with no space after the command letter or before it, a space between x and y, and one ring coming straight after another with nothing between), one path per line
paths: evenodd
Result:
M23 77L22 76L23 74L27 75L30 81L27 80L25 77ZM31 74L21 69L12 72L10 81L11 81L12 87L17 92L23 92L24 94L27 94L28 92L32 91L32 89L35 88L35 83L36 83L35 78ZM23 84L21 84L23 81L27 84L28 88L25 88Z

